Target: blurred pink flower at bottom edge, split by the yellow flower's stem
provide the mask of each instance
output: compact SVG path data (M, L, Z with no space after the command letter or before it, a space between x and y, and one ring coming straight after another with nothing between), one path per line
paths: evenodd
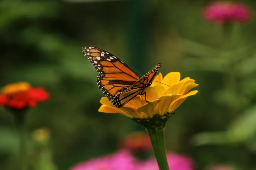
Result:
M193 170L193 160L185 155L179 155L177 153L167 153L167 162L170 170ZM159 170L158 164L155 158L149 159L143 163L138 164L137 170Z

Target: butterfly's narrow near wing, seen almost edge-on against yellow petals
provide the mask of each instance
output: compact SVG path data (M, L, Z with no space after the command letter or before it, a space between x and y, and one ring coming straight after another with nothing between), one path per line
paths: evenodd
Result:
M116 107L122 107L127 104L131 99L138 94L142 94L144 89L151 85L152 80L156 76L158 70L161 67L161 63L157 64L150 72L145 74L136 83L126 89L124 92L119 93L112 102Z

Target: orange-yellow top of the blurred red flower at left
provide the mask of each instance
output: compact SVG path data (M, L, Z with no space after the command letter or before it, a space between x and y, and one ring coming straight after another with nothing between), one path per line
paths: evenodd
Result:
M13 95L19 92L26 92L31 88L30 84L27 82L18 82L18 83L11 83L4 86L1 90L2 94L5 95Z

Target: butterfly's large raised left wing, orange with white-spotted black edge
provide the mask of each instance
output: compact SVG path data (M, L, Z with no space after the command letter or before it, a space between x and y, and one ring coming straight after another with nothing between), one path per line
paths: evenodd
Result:
M127 64L107 51L84 46L82 52L99 72L98 87L110 101L140 78Z

